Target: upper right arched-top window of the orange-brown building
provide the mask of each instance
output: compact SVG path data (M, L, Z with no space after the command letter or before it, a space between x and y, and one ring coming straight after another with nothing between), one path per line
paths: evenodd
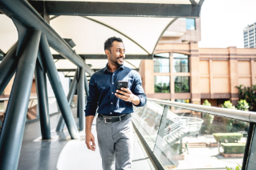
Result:
M173 66L175 73L189 72L189 56L179 53L173 53Z

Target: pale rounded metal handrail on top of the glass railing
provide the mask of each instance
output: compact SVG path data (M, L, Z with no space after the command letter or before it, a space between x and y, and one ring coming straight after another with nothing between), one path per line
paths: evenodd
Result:
M162 99L148 99L148 101L165 104L172 107L181 107L181 108L189 109L192 111L208 113L211 115L219 115L219 116L223 116L231 119L240 119L246 122L256 123L256 112L253 112L253 111L238 111L238 110L220 108L220 107L207 107L207 106L202 106L202 105L197 105L192 103L172 102L172 101L167 101Z

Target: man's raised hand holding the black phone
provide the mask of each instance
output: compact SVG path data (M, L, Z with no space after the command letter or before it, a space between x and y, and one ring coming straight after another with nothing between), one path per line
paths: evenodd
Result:
M125 102L132 102L134 105L140 104L140 98L136 95L133 95L132 91L129 88L122 87L121 91L116 90L116 92L123 94L123 95L119 95L115 93L117 98L123 99Z

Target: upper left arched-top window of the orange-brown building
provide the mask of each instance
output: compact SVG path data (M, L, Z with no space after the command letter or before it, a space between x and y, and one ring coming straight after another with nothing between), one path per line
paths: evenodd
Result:
M169 53L161 53L154 55L154 71L156 73L170 72Z

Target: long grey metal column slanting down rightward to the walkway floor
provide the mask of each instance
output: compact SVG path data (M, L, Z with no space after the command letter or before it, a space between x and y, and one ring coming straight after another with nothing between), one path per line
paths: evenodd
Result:
M63 119L67 125L67 130L71 135L71 139L79 139L79 132L77 130L75 119L71 113L71 108L67 102L66 95L63 91L62 84L60 83L58 71L55 67L51 51L47 42L47 37L45 34L42 34L40 41L40 51L42 52L42 58L47 67L47 75L51 83L51 87L55 93L55 97L59 104L59 109L63 115Z

